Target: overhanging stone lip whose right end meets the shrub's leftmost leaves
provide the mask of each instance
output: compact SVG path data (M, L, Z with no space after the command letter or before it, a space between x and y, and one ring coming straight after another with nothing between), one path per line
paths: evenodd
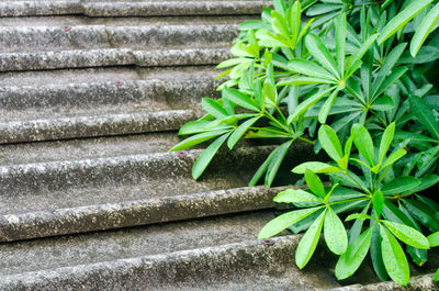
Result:
M196 117L192 110L175 110L7 122L0 123L0 144L177 131Z

